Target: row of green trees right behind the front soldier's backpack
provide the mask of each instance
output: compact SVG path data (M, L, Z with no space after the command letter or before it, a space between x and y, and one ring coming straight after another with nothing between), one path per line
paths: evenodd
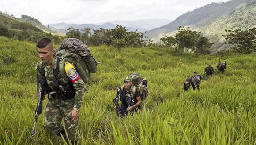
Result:
M89 46L107 45L115 48L122 47L143 47L151 44L151 40L143 40L143 33L128 29L121 25L116 25L115 29L98 29L91 33L90 28L81 29L68 28L67 37L78 38Z

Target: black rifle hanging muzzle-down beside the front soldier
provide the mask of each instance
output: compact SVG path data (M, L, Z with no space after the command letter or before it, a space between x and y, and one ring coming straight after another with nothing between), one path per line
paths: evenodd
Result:
M35 126L38 121L38 116L43 112L43 100L42 99L43 99L45 93L46 93L45 90L42 89L39 94L38 104L37 104L37 108L35 111L35 122L34 122L33 130L32 130L32 135L34 135Z

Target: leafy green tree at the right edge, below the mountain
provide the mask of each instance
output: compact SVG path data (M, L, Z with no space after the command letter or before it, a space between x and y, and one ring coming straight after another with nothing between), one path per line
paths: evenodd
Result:
M248 30L225 30L227 35L222 35L227 40L227 43L235 45L233 51L247 54L256 51L256 27Z

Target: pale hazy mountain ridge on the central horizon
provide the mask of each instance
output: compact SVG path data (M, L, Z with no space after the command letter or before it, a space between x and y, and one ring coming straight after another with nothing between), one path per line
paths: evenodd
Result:
M151 30L154 28L158 28L162 25L166 25L171 22L171 20L168 19L145 19L145 20L137 20L137 21L121 21L121 20L114 20L114 21L108 21L112 24L118 24L125 26L126 28L139 28L143 30ZM106 22L100 22L98 25L105 24ZM139 31L138 29L138 31ZM140 31L143 32L143 31Z

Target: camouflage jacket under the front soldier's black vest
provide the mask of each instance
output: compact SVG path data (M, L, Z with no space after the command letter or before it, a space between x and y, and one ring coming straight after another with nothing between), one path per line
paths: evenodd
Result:
M60 62L61 61L63 61L63 59L60 59ZM72 62L70 62L70 63L72 64ZM41 69L45 69L46 82L47 82L48 87L50 87L51 89L53 89L53 69L56 69L56 67L57 67L57 57L56 56L53 57L53 62L52 62L51 66L46 66L45 63L42 63L41 61L39 61L36 65L36 69L38 70L39 80L41 80ZM65 83L68 83L68 81L69 81L69 80L66 80L60 74L60 72L58 74L58 80L59 80L60 84L65 84ZM75 98L68 100L67 103L74 102L74 109L79 110L79 108L81 107L81 105L83 103L83 96L85 94L85 89L86 89L85 83L83 82L83 80L81 78L79 78L78 80L72 82L72 84L75 89ZM40 87L41 87L41 85L40 85ZM58 99L51 99L51 101L54 101L54 100L58 101Z

